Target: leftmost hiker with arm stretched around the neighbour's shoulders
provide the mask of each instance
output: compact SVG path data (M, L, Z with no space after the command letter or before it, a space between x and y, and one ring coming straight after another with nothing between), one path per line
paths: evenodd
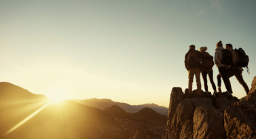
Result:
M196 86L197 86L197 94L196 96L201 95L201 81L200 81L200 61L198 58L213 58L213 56L204 56L201 52L197 51L195 45L189 45L189 51L185 54L185 68L188 71L189 78L189 97L193 96L193 79L194 75L196 75Z

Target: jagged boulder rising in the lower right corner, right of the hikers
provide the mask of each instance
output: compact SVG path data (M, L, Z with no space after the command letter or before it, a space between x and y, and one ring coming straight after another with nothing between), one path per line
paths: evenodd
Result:
M256 138L256 77L249 95L225 110L227 138Z

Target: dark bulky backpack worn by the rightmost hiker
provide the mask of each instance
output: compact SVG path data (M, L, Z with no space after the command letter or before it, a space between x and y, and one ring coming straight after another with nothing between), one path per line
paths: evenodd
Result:
M249 68L248 68L248 63L249 63L249 56L247 56L242 48L235 49L236 51L236 56L238 58L238 62L236 62L237 66L240 67L246 67L247 68L247 73L250 73Z

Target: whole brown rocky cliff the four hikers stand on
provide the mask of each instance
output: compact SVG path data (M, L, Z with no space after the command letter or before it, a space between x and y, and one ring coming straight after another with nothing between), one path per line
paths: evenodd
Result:
M187 97L172 88L165 138L256 138L256 77L249 95ZM194 91L196 93L196 90ZM244 93L245 94L245 93Z

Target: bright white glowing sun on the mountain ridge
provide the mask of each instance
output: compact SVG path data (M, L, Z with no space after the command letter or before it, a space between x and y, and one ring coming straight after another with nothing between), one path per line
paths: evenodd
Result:
M51 90L48 90L48 92L45 93L45 96L48 96L48 98L50 98L50 102L54 103L71 99L71 93L69 90L60 87L54 87Z

